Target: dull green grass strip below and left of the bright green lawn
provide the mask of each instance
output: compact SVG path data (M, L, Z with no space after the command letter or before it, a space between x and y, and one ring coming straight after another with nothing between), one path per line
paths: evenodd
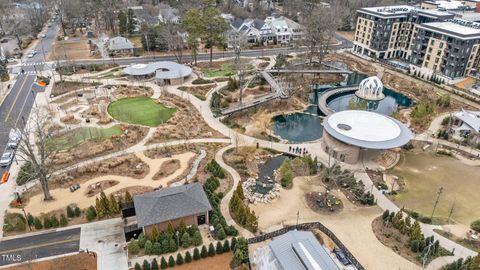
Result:
M68 150L88 140L108 139L114 135L121 135L119 126L110 128L81 127L67 133L66 135L53 137L49 145L57 151Z

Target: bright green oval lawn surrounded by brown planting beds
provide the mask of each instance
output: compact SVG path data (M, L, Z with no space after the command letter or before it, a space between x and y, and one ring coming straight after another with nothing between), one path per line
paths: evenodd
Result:
M115 119L149 127L165 123L177 111L148 97L119 99L110 103L108 113Z

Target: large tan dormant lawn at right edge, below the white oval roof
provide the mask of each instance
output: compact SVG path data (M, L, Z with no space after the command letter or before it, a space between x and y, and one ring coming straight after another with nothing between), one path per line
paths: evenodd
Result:
M400 163L389 171L405 182L405 191L393 197L399 207L430 217L440 187L434 220L446 220L453 203L451 220L469 226L480 217L478 207L478 167L468 166L453 157L429 152L403 152Z

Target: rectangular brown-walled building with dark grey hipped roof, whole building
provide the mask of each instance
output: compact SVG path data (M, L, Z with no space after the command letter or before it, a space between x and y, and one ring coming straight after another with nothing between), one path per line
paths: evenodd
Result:
M200 183L160 189L133 197L137 227L150 235L154 227L165 231L182 221L188 225L209 224L212 206Z

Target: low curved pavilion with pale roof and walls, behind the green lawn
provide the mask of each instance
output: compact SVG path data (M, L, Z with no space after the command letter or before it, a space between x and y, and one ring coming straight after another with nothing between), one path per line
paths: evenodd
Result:
M134 79L155 78L160 85L182 84L185 79L192 75L192 69L170 61L159 61L148 64L132 64L123 72Z

